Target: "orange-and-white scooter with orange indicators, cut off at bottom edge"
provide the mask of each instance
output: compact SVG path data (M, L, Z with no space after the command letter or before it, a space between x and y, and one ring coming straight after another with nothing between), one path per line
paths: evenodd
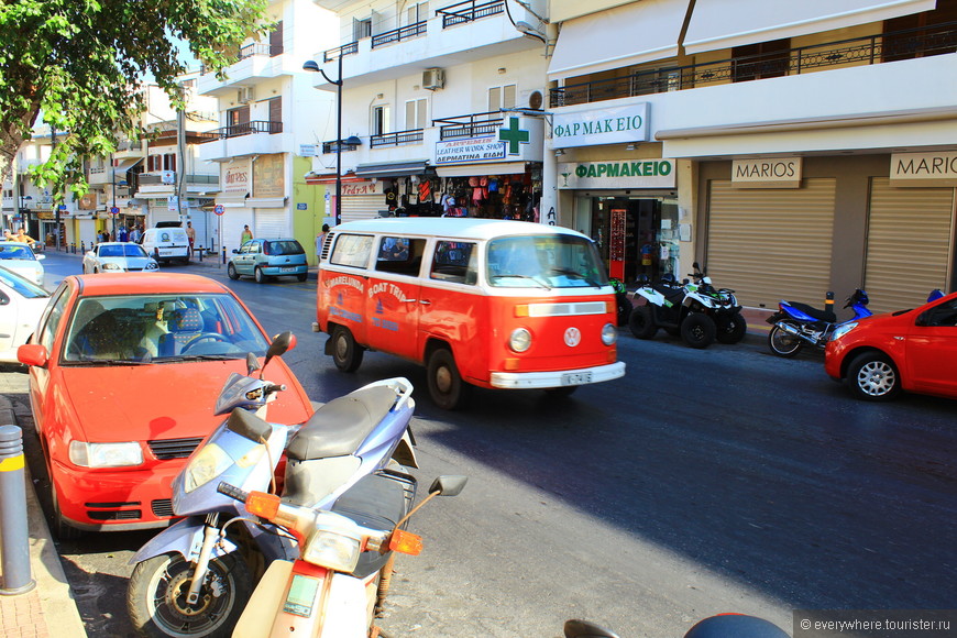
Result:
M421 537L404 529L406 522L432 497L459 494L465 482L465 476L440 476L429 495L398 519L365 514L362 496L340 498L324 509L220 483L220 493L295 537L299 547L295 561L270 564L232 638L380 636L375 618L388 591L394 552L417 556L422 549ZM383 575L376 583L378 573Z

